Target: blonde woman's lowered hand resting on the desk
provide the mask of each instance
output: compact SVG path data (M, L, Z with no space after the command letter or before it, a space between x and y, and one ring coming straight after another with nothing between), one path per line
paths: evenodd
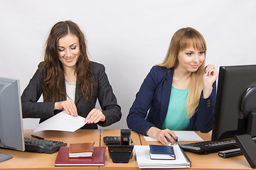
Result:
M169 138L169 140L175 144L175 140L178 140L178 137L175 135L175 133L169 129L160 130L156 127L151 127L146 132L146 135L149 135L150 137L154 137L156 140L161 142L164 145L169 145L170 143L166 140L166 137Z

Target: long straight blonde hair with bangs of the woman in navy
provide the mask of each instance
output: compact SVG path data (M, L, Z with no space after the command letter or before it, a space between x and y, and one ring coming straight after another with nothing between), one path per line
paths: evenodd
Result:
M181 28L174 33L169 45L169 50L164 58L164 62L159 64L161 67L173 68L178 64L178 52L185 50L187 47L193 47L197 50L204 51L206 55L206 40L203 35L194 28ZM186 99L186 117L191 118L195 113L203 89L203 73L206 60L196 72L191 74L188 85L188 97Z

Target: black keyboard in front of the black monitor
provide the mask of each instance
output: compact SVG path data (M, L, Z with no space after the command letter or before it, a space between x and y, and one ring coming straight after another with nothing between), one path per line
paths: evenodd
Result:
M252 140L256 142L256 137L252 137ZM211 141L203 141L203 142L195 142L189 144L181 145L183 150L188 152L194 152L196 154L209 154L212 152L219 152L228 149L238 148L235 140L228 140L223 142L211 142Z

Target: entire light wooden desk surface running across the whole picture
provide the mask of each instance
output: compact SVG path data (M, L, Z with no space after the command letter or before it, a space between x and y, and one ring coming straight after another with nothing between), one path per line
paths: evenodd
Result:
M196 132L203 140L210 140L210 133ZM105 146L103 137L120 135L120 130L77 130L75 132L43 131L34 133L33 130L24 130L24 136L35 134L45 137L47 140L58 140L68 143L95 142L95 146ZM146 142L142 135L132 132L132 145L149 145L159 142ZM186 142L180 142L186 143ZM57 152L54 154L38 154L32 152L20 152L9 149L0 149L1 153L10 154L14 158L0 163L0 169L99 169L98 166L61 166L55 167L54 162ZM201 155L186 152L191 159L191 169L251 169L245 157L238 156L228 159L218 157L217 153ZM135 157L129 164L114 164L109 157L108 149L105 153L105 166L100 169L139 169Z

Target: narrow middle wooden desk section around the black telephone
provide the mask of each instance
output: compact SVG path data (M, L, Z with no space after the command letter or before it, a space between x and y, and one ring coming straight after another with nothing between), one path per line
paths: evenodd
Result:
M139 169L139 166L135 160L135 155L133 155L132 159L129 160L128 164L114 164L112 162L112 159L110 158L110 155L108 153L108 148L103 142L103 137L105 136L119 136L120 130L101 130L101 142L100 146L106 147L106 153L105 153L105 166L100 166L100 170L102 169ZM136 132L131 132L131 139L132 139L132 145L141 145L141 141L139 139L139 134Z

